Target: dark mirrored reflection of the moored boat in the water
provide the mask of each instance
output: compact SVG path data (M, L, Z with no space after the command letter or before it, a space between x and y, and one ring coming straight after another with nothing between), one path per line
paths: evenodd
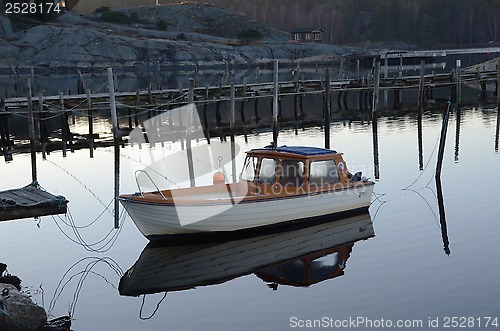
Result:
M354 243L375 235L368 213L283 231L217 243L150 243L122 276L119 292L180 291L251 273L274 289L277 284L309 286L343 275Z

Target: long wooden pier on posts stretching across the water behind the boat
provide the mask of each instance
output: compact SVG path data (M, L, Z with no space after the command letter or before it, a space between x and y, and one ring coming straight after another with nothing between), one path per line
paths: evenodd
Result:
M362 73L358 66L357 74L353 73L355 78L340 74L342 65L339 75L329 76L335 77L333 79L326 78L329 68L325 74L317 70L318 79L309 80L302 79L302 69L294 69L293 80L277 84L279 126L295 127L297 131L299 127L308 125L324 126L330 121L330 116L335 120L344 115L364 118L383 110L418 109L420 112L425 108L445 105L448 100L460 108L468 102L462 98L465 85L474 86L478 91L480 89L481 101L484 102L498 95L499 59L471 68L462 68L460 61L457 61L456 68L447 73L436 73L435 64L421 61L420 65L414 66L414 69L420 68L420 75L414 76L403 76L402 65L392 66L391 69L387 61L381 63L382 58L375 60L371 71ZM116 79L112 71L111 76L109 74L108 89L110 82ZM87 147L90 157L93 157L93 149L100 143L105 146L113 144L109 140L109 131L102 131L101 128L101 132L95 132L93 123L97 116L109 118L110 114L111 117L116 115L112 133L126 136L145 120L190 102L197 106L202 129L208 139L221 137L225 140L231 131L247 134L255 129L269 129L273 125L273 82L196 86L193 81L187 88L179 86L163 89L157 86L154 89L153 84L150 84L146 90L117 91L113 88L112 91L97 93L86 88L86 77L78 72L79 93L42 95L32 89L33 79L26 77L26 96L0 98L0 148L6 160L12 158L13 141L10 139L12 130L9 130L9 122L14 115L17 118L32 116L31 124L28 123L32 140L30 148L41 151L43 157L51 150L61 149L63 156L66 156L67 148L74 150ZM488 85L491 87L487 88ZM380 98L379 94L382 94ZM315 107L304 107L311 101L314 101ZM69 122L71 118L74 122L75 116L87 118L87 132L71 132ZM58 129L49 131L49 121L58 121ZM171 122L169 120L168 125L172 125ZM17 151L28 147L25 137L17 137L17 140L20 141L16 143Z

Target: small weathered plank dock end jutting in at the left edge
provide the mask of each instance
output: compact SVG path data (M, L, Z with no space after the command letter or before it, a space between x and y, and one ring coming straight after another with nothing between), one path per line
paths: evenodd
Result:
M25 187L0 192L0 221L65 214L68 200L43 190L33 182Z

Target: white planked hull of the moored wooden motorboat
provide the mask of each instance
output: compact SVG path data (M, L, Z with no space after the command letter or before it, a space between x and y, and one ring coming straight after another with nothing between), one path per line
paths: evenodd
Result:
M242 199L239 203L151 203L120 197L141 233L164 235L233 232L330 215L366 212L373 185L286 197ZM209 216L210 215L210 216Z

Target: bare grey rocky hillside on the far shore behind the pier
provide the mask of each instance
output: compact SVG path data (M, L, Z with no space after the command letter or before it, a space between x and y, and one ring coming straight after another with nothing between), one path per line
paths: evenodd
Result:
M259 66L273 59L329 62L362 52L327 44L290 43L286 32L212 5L150 6L118 12L134 15L136 23L107 23L99 14L68 12L48 23L9 31L9 18L0 16L0 66ZM160 21L166 22L164 31L155 28ZM256 29L262 38L240 40L236 32L241 29Z

